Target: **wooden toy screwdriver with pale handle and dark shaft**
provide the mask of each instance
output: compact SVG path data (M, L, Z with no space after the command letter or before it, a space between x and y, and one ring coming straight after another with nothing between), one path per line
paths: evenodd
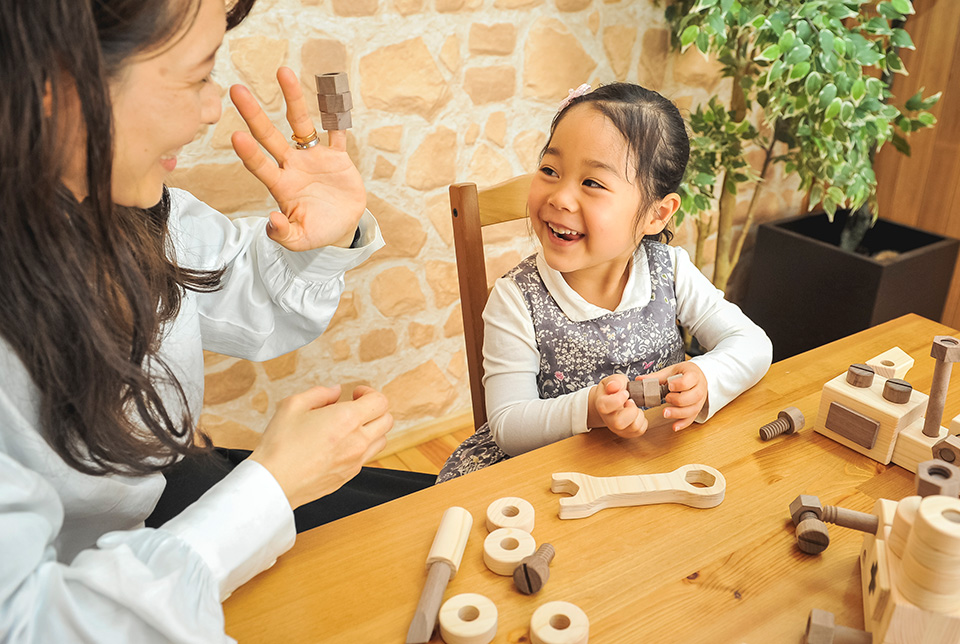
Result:
M467 537L473 527L473 515L461 507L447 508L433 537L427 555L427 581L423 584L417 611L407 631L406 644L426 644L433 635L437 614L447 583L457 574Z

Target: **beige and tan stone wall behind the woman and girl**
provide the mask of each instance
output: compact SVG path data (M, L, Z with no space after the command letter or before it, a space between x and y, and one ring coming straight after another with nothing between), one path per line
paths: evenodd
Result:
M388 246L347 275L312 344L262 364L209 354L202 424L260 431L283 397L333 383L385 392L395 435L466 412L447 186L532 171L558 102L583 82L639 82L683 112L728 95L729 81L695 49L669 52L662 11L649 0L259 0L228 34L214 79L246 84L289 134L276 68L300 73L308 95L313 74L347 71L348 149ZM269 194L230 147L242 127L224 91L223 118L185 150L171 183L230 216L269 212ZM790 187L768 192L761 220L798 203ZM533 248L517 232L488 240L491 278ZM677 232L692 254L693 226Z

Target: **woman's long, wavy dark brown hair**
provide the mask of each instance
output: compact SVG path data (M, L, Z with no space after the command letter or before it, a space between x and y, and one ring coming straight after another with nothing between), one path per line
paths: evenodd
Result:
M252 4L239 0L229 26ZM198 7L0 2L0 336L38 390L45 439L88 474L142 475L199 449L159 337L184 290L215 290L222 270L169 256L166 190L146 210L112 202L108 84L132 56L167 46ZM71 144L86 159L82 203L61 181Z

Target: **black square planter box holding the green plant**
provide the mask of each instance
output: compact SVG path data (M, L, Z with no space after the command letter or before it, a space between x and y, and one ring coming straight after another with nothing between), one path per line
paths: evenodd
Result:
M773 359L870 328L907 313L939 320L960 241L877 220L859 250L841 250L845 212L762 224L743 311L773 341ZM883 250L899 257L872 259ZM864 356L864 360L871 356Z

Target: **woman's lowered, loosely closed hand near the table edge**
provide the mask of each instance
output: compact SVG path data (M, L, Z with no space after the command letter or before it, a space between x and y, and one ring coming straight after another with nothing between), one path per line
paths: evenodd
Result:
M291 508L337 490L383 449L393 427L387 398L359 386L313 387L284 398L250 458L273 474Z

